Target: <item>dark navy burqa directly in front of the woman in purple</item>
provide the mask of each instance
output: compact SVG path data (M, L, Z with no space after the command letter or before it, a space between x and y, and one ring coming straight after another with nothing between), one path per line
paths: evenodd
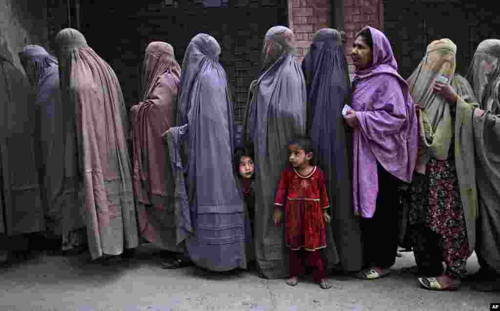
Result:
M343 270L357 271L362 265L362 245L359 216L352 210L352 131L342 117L343 106L350 105L351 89L338 31L321 29L314 34L302 70L307 86L307 133L314 142L314 157L324 172L330 202L333 241L327 245L327 258L334 259L338 253Z

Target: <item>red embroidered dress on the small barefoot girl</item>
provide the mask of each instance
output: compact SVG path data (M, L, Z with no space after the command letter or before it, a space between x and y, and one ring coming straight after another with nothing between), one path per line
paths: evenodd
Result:
M312 251L326 247L323 210L329 205L321 169L314 166L309 175L302 176L287 167L281 173L274 204L284 205L286 246Z

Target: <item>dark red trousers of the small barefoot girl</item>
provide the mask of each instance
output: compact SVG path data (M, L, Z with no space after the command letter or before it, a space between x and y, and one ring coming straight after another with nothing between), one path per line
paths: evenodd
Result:
M290 276L299 276L305 273L305 260L310 267L313 267L312 275L315 282L326 278L321 251L315 250L289 250Z

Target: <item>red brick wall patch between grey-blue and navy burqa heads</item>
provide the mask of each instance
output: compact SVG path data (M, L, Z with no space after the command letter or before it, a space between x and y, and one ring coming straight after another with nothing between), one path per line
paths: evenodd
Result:
M288 0L288 25L295 34L299 61L307 54L314 33L331 24L330 0Z

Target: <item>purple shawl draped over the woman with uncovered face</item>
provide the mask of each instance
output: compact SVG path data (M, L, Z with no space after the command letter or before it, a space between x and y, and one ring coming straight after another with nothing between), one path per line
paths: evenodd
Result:
M353 132L353 207L371 218L378 194L377 161L394 177L410 182L417 152L417 119L408 85L397 73L390 43L367 27L373 41L372 65L356 71L352 109L359 127ZM397 195L398 189L394 189Z

